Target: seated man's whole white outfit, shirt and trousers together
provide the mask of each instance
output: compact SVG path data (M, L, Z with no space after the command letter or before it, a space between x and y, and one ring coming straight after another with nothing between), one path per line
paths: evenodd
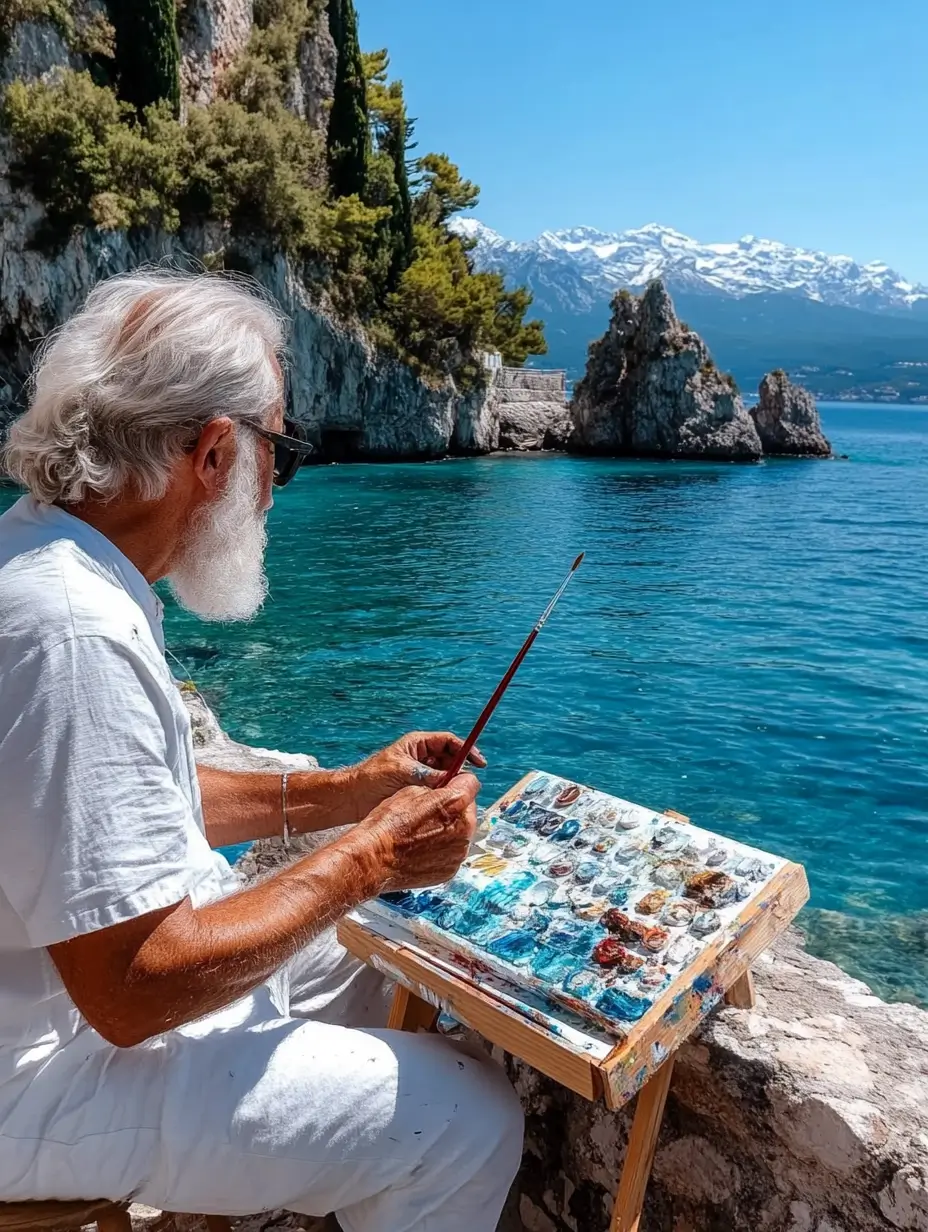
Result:
M86 524L31 498L0 517L0 1200L492 1232L521 1148L511 1089L442 1040L338 1025L382 1023L383 999L332 934L292 981L131 1050L68 997L46 946L237 887L160 617Z

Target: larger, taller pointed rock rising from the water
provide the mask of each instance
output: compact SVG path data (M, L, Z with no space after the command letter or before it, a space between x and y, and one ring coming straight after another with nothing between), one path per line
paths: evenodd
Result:
M589 349L571 407L569 448L626 457L760 457L733 379L674 313L661 281L620 291L605 335Z

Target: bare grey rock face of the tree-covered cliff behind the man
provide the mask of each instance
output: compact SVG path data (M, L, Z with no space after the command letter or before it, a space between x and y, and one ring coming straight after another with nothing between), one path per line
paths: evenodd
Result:
M88 0L88 17L102 11ZM253 0L186 0L179 15L184 102L216 97L222 73L246 44ZM0 85L32 79L84 59L51 23L25 22L0 67ZM299 47L290 106L324 129L334 84L334 44L319 22ZM14 191L9 154L0 140L0 425L22 409L23 382L35 346L64 322L100 278L148 262L214 264L244 269L277 299L292 320L291 387L296 415L320 460L431 458L477 453L498 445L498 411L487 391L461 393L450 379L430 384L407 365L378 351L365 334L340 322L292 262L256 244L232 241L222 227L179 235L88 228L54 254L33 246L41 207Z

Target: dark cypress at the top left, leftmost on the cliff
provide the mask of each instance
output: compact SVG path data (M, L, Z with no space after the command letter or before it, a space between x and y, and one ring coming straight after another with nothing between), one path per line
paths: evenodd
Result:
M120 97L139 116L165 99L180 111L180 47L175 0L108 0L116 32Z

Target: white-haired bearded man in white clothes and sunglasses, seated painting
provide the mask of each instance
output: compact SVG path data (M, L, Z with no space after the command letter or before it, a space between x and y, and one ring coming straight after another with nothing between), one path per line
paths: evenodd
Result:
M477 781L405 737L354 768L197 771L166 578L264 600L282 323L210 276L101 283L44 347L0 517L0 1200L334 1211L345 1232L490 1232L521 1152L497 1067L382 1029L332 924L450 877ZM481 764L482 759L478 759ZM240 888L212 848L354 823Z

